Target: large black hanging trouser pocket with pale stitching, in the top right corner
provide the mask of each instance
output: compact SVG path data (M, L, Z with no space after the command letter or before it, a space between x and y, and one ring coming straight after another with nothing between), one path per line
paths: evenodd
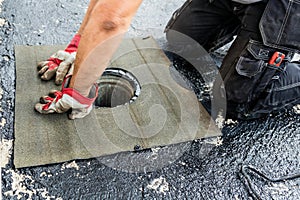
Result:
M259 28L263 42L274 48L300 49L300 0L269 0Z

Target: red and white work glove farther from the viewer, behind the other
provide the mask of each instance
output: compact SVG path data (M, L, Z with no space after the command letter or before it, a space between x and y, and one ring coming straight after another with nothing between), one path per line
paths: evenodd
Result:
M70 68L73 67L79 41L80 35L76 34L65 50L60 50L48 60L39 62L38 73L41 75L41 79L50 80L56 75L55 84L60 85L67 73L72 73Z

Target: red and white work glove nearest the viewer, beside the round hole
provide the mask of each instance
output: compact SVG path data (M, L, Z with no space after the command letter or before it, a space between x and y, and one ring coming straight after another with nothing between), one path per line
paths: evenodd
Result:
M70 119L83 118L93 109L93 103L98 96L98 86L93 85L90 91L90 98L82 96L73 88L66 88L65 82L70 79L67 76L62 85L61 91L52 90L49 96L41 97L40 103L35 105L35 110L42 114L64 113L72 109Z

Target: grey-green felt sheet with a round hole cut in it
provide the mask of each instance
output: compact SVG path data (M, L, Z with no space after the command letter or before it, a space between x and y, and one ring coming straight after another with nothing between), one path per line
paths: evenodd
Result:
M221 135L217 129L208 131L208 113L192 91L172 79L169 60L151 37L124 40L109 66L127 70L137 78L141 93L136 101L94 109L75 121L66 115L40 115L33 109L36 97L54 86L37 76L36 65L62 48L15 48L16 168L134 151L137 145L149 149Z

